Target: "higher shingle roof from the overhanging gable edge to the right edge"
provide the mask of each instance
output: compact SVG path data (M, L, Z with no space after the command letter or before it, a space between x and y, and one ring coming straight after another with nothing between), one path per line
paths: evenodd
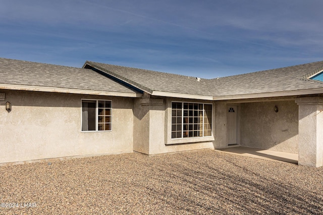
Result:
M323 61L219 79L201 79L200 82L193 77L145 69L90 61L84 66L87 64L148 93L163 91L220 97L323 88L323 82L307 79L323 69Z

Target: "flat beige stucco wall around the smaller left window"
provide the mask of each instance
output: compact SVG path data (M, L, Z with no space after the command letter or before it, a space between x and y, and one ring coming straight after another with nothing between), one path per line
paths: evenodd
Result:
M0 163L133 152L133 99L30 91L0 101ZM81 99L112 100L112 131L81 132ZM5 102L12 111L5 110Z

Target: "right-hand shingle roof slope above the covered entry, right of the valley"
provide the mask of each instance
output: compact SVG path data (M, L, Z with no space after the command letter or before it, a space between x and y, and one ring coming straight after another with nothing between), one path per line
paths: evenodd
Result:
M257 71L207 81L213 96L233 96L323 88L323 82L306 79L323 69L323 61Z

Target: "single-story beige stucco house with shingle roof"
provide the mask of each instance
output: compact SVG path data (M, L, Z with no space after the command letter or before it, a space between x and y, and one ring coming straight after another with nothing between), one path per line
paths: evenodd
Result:
M0 164L229 145L323 166L323 61L200 79L0 58Z

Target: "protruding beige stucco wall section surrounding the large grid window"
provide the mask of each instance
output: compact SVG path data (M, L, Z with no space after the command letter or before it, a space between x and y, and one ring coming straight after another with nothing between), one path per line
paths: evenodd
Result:
M213 136L183 138L175 141L170 139L172 101L212 103L210 101L162 97L137 99L134 102L134 151L153 155L206 148L214 149ZM214 131L213 125L212 128Z

